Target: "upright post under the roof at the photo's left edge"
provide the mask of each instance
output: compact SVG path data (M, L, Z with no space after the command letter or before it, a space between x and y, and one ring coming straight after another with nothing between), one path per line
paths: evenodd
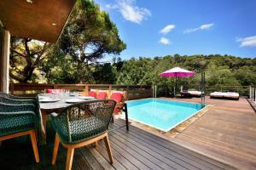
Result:
M1 42L1 91L9 94L9 48L10 34L9 31L3 29L3 39Z

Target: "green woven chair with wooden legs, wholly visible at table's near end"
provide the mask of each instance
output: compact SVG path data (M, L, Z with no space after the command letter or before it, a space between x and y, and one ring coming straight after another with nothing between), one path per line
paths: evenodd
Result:
M67 148L66 170L70 170L74 149L100 139L104 139L110 163L113 163L108 125L115 105L113 99L96 99L67 106L58 115L52 113L52 125L56 131L52 164L55 164L60 142Z

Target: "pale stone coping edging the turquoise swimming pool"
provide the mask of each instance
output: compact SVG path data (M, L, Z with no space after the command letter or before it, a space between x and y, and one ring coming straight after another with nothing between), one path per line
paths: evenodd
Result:
M145 99L155 99L155 98L145 98ZM177 103L189 103L189 104L200 104L200 103L196 103L196 102L186 102L186 101L177 101L177 100L173 100L173 99L162 99L162 98L156 98L156 99L160 99L160 100L166 100L166 101L175 101ZM142 99L133 99L133 100L130 100L130 101L137 101L137 100L142 100ZM192 115L186 117L185 119L183 119L181 122L177 122L175 125L173 125L172 127L169 127L167 130L164 130L160 127L155 127L155 126L152 126L152 125L149 125L148 123L145 123L145 122L141 122L141 121L137 121L137 120L134 120L132 118L129 117L129 112L128 112L128 117L129 117L129 120L131 120L132 122L139 122L139 123L142 123L148 127L153 127L157 130L160 130L161 132L163 133L168 133L170 132L173 128L179 126L180 124L182 124L183 122L186 122L188 121L191 117L197 115L199 112L203 111L205 108L207 108L207 105L205 105L203 108L201 108L201 110L199 111L195 111L195 113L193 113ZM123 116L121 116L123 118Z

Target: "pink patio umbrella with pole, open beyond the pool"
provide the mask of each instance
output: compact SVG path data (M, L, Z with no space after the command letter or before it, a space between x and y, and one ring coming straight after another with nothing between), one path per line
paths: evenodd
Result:
M177 77L192 77L195 75L194 71L187 71L179 67L174 67L169 71L160 73L160 77L175 77L175 91L177 89ZM174 92L174 95L176 93Z

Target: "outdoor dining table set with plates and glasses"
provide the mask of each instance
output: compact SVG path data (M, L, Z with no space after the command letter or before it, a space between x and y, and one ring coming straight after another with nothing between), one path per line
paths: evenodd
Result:
M40 144L46 144L47 116L53 112L60 113L61 109L67 107L68 105L73 105L74 103L87 100L85 98L86 97L82 97L77 94L38 94L39 106L42 116Z

